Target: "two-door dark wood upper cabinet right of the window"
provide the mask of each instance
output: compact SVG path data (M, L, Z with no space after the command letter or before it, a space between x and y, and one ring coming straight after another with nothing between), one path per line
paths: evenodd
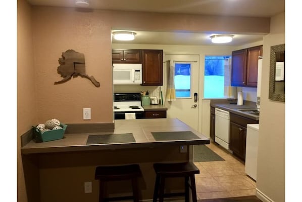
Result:
M262 47L232 52L231 86L257 87L258 57L262 56Z

